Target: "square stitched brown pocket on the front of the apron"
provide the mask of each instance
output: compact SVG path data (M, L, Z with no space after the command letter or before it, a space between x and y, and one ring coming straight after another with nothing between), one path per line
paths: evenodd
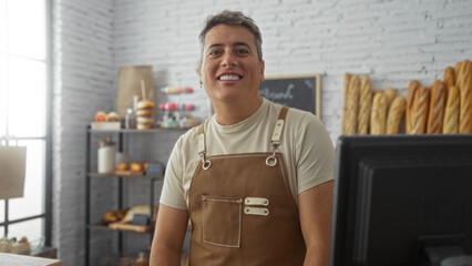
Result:
M216 246L239 247L243 200L202 196L202 201L203 242Z

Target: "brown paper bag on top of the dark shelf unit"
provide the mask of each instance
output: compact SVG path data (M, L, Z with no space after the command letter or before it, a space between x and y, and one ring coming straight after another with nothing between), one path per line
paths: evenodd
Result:
M155 102L154 78L151 65L127 66L120 70L119 92L116 96L116 112L124 117L126 109L133 109L133 96L143 98L141 80L145 84L146 100Z

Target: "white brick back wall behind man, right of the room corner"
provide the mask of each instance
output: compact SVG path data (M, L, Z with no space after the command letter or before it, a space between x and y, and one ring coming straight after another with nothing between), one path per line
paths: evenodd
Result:
M472 58L470 0L116 0L114 66L152 64L158 85L197 88L197 37L204 19L223 9L258 23L267 76L322 74L321 117L334 142L345 72L368 73L374 89L404 94L410 80L430 85L445 66Z

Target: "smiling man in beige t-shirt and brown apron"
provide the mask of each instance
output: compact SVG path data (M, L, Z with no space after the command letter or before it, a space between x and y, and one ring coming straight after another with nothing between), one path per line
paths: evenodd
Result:
M328 265L335 152L311 113L260 98L258 27L209 17L201 84L215 115L185 133L167 165L151 265Z

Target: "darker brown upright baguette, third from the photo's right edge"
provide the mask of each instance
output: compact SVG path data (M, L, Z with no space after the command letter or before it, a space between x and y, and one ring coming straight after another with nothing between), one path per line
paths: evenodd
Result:
M431 100L428 114L428 134L442 133L445 108L445 85L442 81L434 81L431 86Z

